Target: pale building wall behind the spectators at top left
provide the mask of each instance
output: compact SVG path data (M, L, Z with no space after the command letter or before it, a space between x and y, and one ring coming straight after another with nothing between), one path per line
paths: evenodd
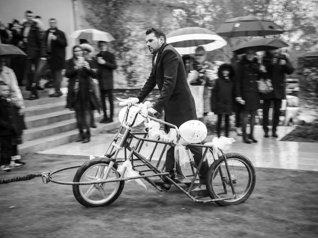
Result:
M67 59L71 58L71 49L76 44L69 38L75 29L73 0L0 0L0 18L4 23L12 19L21 21L26 10L42 17L44 29L49 28L49 19L56 18L58 28L68 38Z

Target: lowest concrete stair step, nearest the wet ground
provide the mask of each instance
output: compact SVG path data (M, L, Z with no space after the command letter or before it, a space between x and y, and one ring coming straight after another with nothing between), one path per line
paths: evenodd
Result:
M119 125L120 125L120 122L118 121L118 119L115 120L114 122L107 123L107 124L97 123L97 128L91 128L90 133L92 136L94 136L105 130L111 130L116 127L119 127ZM67 143L75 141L78 134L79 134L79 130L73 129L73 130L62 132L62 133L57 133L54 135L25 141L23 144L18 146L18 153L21 155L27 154L27 153L34 153L37 151L56 147L58 145L67 144Z

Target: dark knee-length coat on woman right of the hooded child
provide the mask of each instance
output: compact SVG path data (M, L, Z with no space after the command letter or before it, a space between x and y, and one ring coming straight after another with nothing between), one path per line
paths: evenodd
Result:
M244 111L256 111L260 106L260 95L257 89L257 81L261 76L259 63L254 58L249 61L243 56L237 65L236 97L245 101Z

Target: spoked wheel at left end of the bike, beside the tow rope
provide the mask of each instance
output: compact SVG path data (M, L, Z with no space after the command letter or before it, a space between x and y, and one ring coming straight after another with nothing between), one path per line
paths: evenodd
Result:
M87 161L79 167L74 177L74 182L94 182L104 180L102 177L108 169L109 161L94 159ZM117 165L111 168L106 180L119 179ZM86 207L98 207L109 205L121 194L125 181L115 181L107 183L94 183L88 185L73 185L73 194L80 204Z

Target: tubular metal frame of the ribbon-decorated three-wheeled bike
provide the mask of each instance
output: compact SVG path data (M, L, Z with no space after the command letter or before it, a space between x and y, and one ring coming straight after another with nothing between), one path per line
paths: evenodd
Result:
M201 158L201 161L197 167L197 171L194 173L193 175L193 178L191 179L191 184L189 186L189 189L188 191L186 191L184 188L182 188L177 182L175 182L173 179L170 179L167 175L169 175L168 172L162 172L163 168L161 170L159 170L159 164L160 164L160 161L162 159L162 156L164 154L164 151L166 149L167 146L174 146L174 144L172 142L166 142L166 141L160 141L160 140L153 140L153 139L148 139L147 138L147 135L148 135L148 132L132 132L132 125L135 123L136 119L137 119L137 116L138 116L138 113L136 113L132 123L128 123L127 122L127 117L128 117L128 113L129 113L129 110L130 108L132 107L133 105L132 104L129 104L128 107L127 107L127 110L126 110L126 114L125 114L125 117L121 123L121 126L113 140L113 142L109 145L108 149L107 149L107 152L105 154L105 157L108 158L110 160L110 163L109 163L109 166L107 168L107 171L103 174L103 177L102 177L102 180L99 181L100 183L103 183L103 182L114 182L114 181L120 181L120 180L131 180L131 179L145 179L146 181L148 181L150 184L152 184L155 188L157 188L158 190L162 191L162 189L160 187L158 187L151 179L149 179L150 177L157 177L157 176L165 176L166 179L168 179L173 185L175 185L177 188L179 188L183 193L185 193L189 198L191 198L193 201L195 202L202 202L202 203L206 203L206 202L215 202L215 201L218 201L218 200L226 200L226 199L233 199L233 198L236 198L236 195L235 195L235 190L234 190L234 186L233 186L233 181L232 181L232 178L231 178L231 175L230 175L230 171L229 171L229 167L228 167L228 163L227 163L227 159L226 159L226 155L224 154L224 152L219 149L224 157L224 162L225 162L225 166L226 166L226 171L228 173L228 176L229 176L229 182L230 182L230 186L232 188L232 193L233 193L233 196L230 196L230 197L227 197L227 198L217 198L217 199L206 199L206 200L200 200L200 199L197 199L195 198L194 196L192 196L190 194L191 192L191 189L194 185L194 182L196 180L196 178L198 177L198 173L199 173L199 170L203 164L203 161L204 161L204 158L208 152L208 150L212 151L212 146L208 146L208 145L203 145L203 144L191 144L189 146L195 146L195 147L201 147L204 151L203 151L203 155L202 155L202 158ZM179 139L180 138L180 135L179 135L179 132L178 132L178 128L177 126L173 125L173 124L170 124L166 121L163 121L163 120L160 120L160 119L157 119L157 118L154 118L154 117L151 117L151 116L143 116L144 118L146 119L151 119L151 120L154 120L154 121L157 121L159 123L162 123L162 124L165 124L165 125L168 125L168 126L171 126L173 128L176 129L177 131L177 138ZM120 140L119 140L120 139ZM136 139L137 140L137 143L135 146L131 146L131 143L133 141L133 139ZM149 157L149 159L146 159L141 153L141 149L142 149L142 146L145 142L154 142L155 143L155 146L154 146L154 149ZM151 163L152 161L152 158L153 158L153 155L155 153L155 150L157 149L158 147L158 144L163 144L164 147L160 153L160 156L159 156L159 160L155 165L153 165ZM120 159L120 158L117 158L118 157L118 154L121 150L124 150L124 158L123 159ZM127 151L129 151L129 154L127 155ZM213 155L213 153L212 153ZM136 158L134 158L136 157ZM121 177L119 179L109 179L109 180L106 180L113 165L115 163L121 163L121 162L125 162L126 160L130 160L132 166L133 166L133 170L138 172L139 173L139 176L135 176L135 177L129 177L129 178L124 178L124 174L126 172L126 169L124 169L123 173L121 174ZM215 158L214 158L215 160ZM134 162L136 161L141 161L142 164L140 165L135 165ZM145 169L145 170L138 170L137 168L139 167L143 167L143 166L147 166L148 169ZM146 172L154 172L153 175L145 175ZM192 168L192 172L194 172L193 168ZM223 176L222 175L222 171L220 170L220 176ZM225 184L223 184L224 188L225 188ZM226 193L227 191L225 191Z

